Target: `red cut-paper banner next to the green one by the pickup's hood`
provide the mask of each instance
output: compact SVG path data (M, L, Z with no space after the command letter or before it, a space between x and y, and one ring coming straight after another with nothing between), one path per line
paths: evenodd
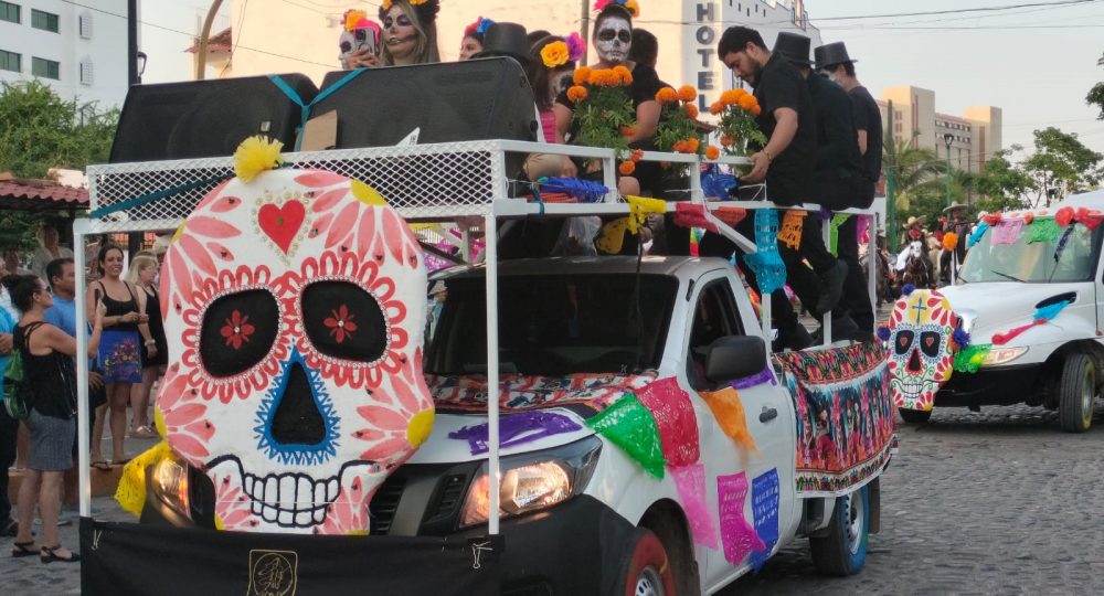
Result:
M672 468L696 464L700 456L698 417L690 394L673 376L656 381L636 392L636 397L651 412L664 446L664 458Z

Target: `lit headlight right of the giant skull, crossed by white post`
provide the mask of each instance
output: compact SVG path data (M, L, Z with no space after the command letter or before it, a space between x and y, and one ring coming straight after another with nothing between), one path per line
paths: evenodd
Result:
M500 461L499 515L508 518L556 505L586 489L598 462L602 441L596 437L533 454L503 457ZM485 523L490 514L490 476L487 462L468 488L460 526Z

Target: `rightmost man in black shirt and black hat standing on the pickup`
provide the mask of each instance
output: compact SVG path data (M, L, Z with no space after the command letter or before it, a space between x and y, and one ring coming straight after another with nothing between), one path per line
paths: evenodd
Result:
M860 188L851 206L867 209L874 201L874 185L882 175L882 113L878 109L873 96L856 77L854 61L848 55L843 42L821 45L814 51L814 55L817 70L843 87L851 98L859 155L862 157L862 170L867 182ZM840 226L838 235L839 257L849 266L852 262L859 262L854 220L851 217ZM870 292L862 272L848 269L841 302L850 310L851 318L860 328L873 328L874 309L870 304Z

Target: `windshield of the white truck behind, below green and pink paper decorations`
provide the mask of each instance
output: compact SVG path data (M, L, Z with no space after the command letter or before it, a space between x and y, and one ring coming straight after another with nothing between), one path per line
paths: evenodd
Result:
M1093 231L1073 224L1062 230L1060 238L1065 238L1064 242L1030 243L1025 227L1015 243L994 244L990 228L967 253L958 279L967 284L1090 281L1096 273L1101 232L1104 227Z

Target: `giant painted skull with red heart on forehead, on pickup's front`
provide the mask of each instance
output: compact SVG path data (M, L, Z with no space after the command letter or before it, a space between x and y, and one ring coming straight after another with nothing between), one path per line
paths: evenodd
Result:
M347 534L433 426L426 269L363 183L264 172L211 192L166 255L169 445L214 482L222 528Z

